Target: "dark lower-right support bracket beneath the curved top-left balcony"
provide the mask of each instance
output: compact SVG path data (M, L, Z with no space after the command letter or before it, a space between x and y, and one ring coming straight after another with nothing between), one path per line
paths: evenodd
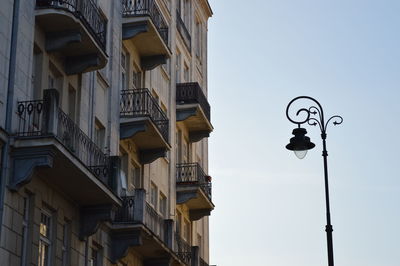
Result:
M67 75L83 73L89 68L98 66L100 66L100 56L98 54L70 56L65 59L65 73Z

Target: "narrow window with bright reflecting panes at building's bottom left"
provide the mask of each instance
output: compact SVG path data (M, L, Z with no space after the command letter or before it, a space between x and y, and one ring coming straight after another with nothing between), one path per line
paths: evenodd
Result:
M50 252L51 252L51 215L42 211L40 217L39 227L39 262L38 266L50 266Z

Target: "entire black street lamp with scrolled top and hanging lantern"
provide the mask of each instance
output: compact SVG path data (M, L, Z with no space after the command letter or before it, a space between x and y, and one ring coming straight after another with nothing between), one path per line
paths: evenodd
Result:
M290 117L289 111L291 105L298 100L310 100L313 102L313 105L308 108L300 108L296 112L296 118L300 114L305 114L305 119L296 120ZM314 105L315 104L315 105ZM327 240L327 248L328 248L328 265L334 266L333 263L333 240L332 240L332 224L331 224L331 213L330 213L330 205L329 205L329 186L328 186L328 152L326 150L326 129L330 122L333 125L340 125L343 122L343 118L338 115L334 115L330 117L325 122L324 110L322 109L321 104L312 97L309 96L299 96L291 100L286 107L286 117L290 122L297 125L297 128L293 129L292 134L294 137L290 139L290 143L286 145L288 150L294 151L296 156L299 159L303 159L307 150L311 150L315 147L315 144L311 142L310 138L306 136L307 130L302 128L302 124L308 124L311 126L319 126L321 130L321 138L322 138L322 157L324 159L324 180L325 180L325 203L326 203L326 240Z

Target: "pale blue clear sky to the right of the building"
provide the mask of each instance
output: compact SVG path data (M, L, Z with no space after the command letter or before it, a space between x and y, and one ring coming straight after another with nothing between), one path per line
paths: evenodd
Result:
M315 97L328 128L335 265L400 265L400 1L210 0L211 264L327 265L321 139L285 149Z

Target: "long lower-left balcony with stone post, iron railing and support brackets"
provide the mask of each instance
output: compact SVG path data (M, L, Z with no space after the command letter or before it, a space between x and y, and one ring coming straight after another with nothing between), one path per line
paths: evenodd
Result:
M33 178L47 183L80 206L79 237L84 239L121 204L119 158L104 154L59 108L57 90L44 95L44 100L18 102L8 187L17 191Z

